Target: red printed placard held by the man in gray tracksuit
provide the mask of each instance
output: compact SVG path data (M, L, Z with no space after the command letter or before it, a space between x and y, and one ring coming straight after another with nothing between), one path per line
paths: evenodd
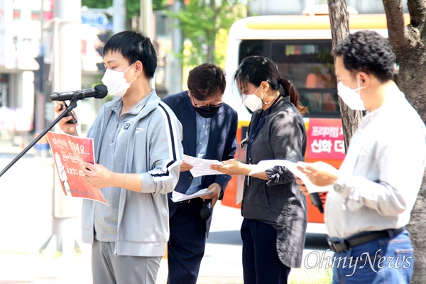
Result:
M56 170L64 194L70 197L82 197L107 204L99 188L92 187L84 179L85 162L94 164L93 139L80 138L67 134L46 133L52 148Z

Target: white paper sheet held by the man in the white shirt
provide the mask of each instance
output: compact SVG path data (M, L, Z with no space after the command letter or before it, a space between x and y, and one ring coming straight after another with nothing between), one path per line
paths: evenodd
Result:
M269 168L273 168L275 165L283 165L286 168L288 168L288 170L290 170L290 172L292 172L295 176L297 176L297 178L300 178L300 180L305 182L305 186L310 193L327 192L329 190L332 190L332 185L327 185L324 187L314 185L309 180L309 178L307 178L305 173L302 173L300 170L297 170L297 165L303 166L302 162L298 162L298 164L296 165L296 163L290 162L290 160L261 160L261 162L259 162L255 166L255 168L253 168L253 170L251 170L249 175L264 172L265 170L268 170Z

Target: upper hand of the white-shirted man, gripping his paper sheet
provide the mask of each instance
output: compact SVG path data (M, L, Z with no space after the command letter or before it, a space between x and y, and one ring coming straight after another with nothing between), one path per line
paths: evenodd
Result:
M332 185L339 177L339 170L324 162L297 163L297 169L305 173L307 178L318 186Z

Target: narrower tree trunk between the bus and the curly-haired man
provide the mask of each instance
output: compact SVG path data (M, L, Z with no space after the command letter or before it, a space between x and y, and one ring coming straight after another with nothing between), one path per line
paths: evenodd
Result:
M346 0L328 0L330 26L332 29L332 44L337 45L349 35L349 15L346 9ZM336 63L336 60L334 60ZM349 148L349 141L361 124L362 111L353 111L340 99L340 115L342 116L344 146Z

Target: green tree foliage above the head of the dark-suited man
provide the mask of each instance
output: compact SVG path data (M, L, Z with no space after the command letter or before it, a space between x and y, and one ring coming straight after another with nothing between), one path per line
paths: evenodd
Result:
M175 0L178 1L178 0ZM168 13L178 18L183 38L190 40L190 53L181 55L184 65L200 65L203 62L219 63L222 58L215 52L215 40L219 31L226 33L232 23L244 16L245 5L241 0L191 0L178 13Z

